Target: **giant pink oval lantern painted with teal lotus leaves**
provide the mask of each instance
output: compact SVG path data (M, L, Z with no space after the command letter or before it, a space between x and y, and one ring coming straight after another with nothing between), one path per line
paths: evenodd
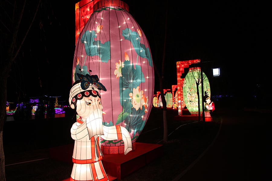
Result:
M103 124L121 125L135 141L152 107L154 68L147 38L122 1L99 1L76 43L72 80L92 70L101 92ZM122 140L101 141L106 154L124 152Z

